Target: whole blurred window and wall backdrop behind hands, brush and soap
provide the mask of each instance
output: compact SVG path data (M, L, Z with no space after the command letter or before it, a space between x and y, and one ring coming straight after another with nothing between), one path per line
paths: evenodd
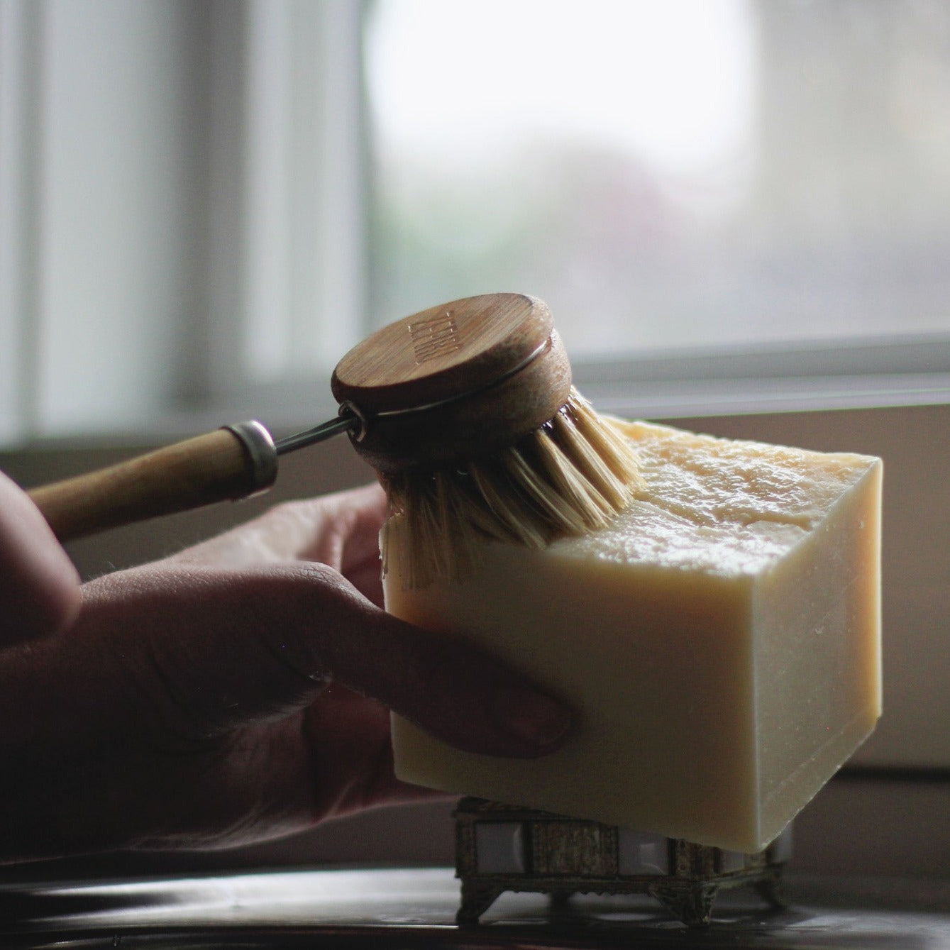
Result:
M950 875L948 117L943 0L0 0L0 467L309 427L377 326L541 296L599 409L883 456L885 715L796 861ZM417 810L245 860L450 861Z

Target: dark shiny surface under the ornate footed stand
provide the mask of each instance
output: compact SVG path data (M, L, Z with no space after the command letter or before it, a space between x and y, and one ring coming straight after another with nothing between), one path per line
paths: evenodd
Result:
M541 896L506 894L480 926L460 930L449 868L6 883L0 947L950 950L950 881L789 875L787 893L782 911L751 893L724 895L701 931L646 897L580 896L552 917Z

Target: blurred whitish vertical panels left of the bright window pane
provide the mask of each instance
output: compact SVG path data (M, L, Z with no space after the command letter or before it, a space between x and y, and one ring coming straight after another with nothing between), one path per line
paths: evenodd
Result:
M0 438L226 411L359 338L360 17L5 0Z

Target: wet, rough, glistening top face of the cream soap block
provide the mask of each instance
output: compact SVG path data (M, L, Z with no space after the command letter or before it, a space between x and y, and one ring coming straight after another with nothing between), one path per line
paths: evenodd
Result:
M618 425L637 445L644 489L609 528L555 542L550 554L755 575L802 541L878 461Z

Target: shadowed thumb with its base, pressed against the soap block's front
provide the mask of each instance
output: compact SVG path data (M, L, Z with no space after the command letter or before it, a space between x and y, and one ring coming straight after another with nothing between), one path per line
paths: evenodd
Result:
M157 721L194 739L301 709L330 679L467 751L541 755L570 725L501 661L391 617L324 564L121 572L86 585L80 627L112 641L92 654L122 657Z

